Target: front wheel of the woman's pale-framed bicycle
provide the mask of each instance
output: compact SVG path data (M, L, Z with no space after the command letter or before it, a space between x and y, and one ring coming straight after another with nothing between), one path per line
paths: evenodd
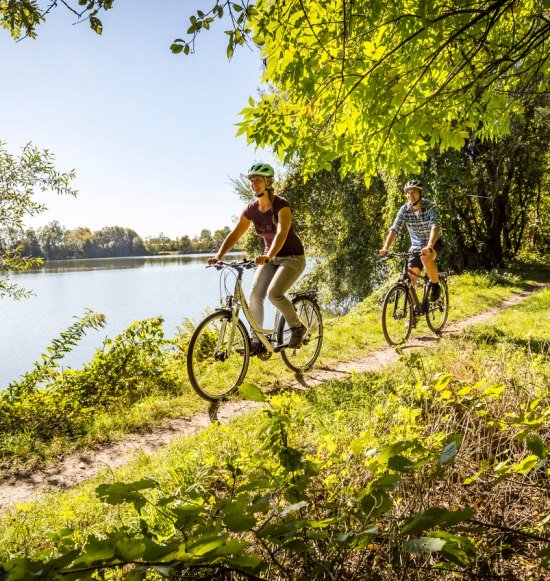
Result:
M187 351L187 373L193 389L216 401L232 394L243 382L250 344L240 319L233 325L230 311L208 315L193 332Z

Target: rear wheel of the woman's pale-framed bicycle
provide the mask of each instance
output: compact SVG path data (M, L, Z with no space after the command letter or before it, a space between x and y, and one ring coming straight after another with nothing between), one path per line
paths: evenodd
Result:
M317 303L308 297L296 297L292 304L300 320L307 327L307 333L300 347L297 349L283 349L281 357L286 366L292 371L304 372L311 369L321 352L323 317ZM284 317L279 320L277 340L279 345L285 345L290 341L290 327Z

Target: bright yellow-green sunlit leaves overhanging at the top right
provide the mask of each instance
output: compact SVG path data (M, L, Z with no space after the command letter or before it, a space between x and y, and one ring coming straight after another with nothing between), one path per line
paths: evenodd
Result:
M533 67L542 74L547 67L537 41L547 25L535 16L535 0L519 4L511 19L482 0L467 12L446 0L259 1L247 22L261 39L265 85L280 102L269 111L256 103L239 132L282 160L298 154L306 173L329 168L336 152L342 174L368 175L414 172L428 144L459 149L472 128L484 138L501 136L512 110L523 107L515 107L515 89ZM242 26L228 54L246 35ZM534 93L542 90L531 82ZM270 130L259 131L264 125Z

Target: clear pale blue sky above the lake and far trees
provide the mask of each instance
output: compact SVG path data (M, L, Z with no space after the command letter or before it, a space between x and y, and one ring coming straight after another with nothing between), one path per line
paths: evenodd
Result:
M32 141L55 154L58 169L77 173L78 197L41 198L49 210L30 225L56 219L171 237L231 225L243 204L229 178L254 161L273 162L235 137L259 85L258 55L244 47L228 61L219 22L194 55L170 52L192 11L209 3L114 6L102 15L102 36L75 25L63 6L37 39L15 43L0 29L0 140L12 152Z

